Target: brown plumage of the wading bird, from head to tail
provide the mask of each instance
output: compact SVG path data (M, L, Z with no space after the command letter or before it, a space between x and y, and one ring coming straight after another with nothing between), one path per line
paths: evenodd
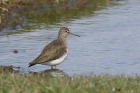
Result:
M54 61L56 59L63 57L63 55L65 55L65 54L67 56L66 37L69 34L75 35L75 34L72 34L68 28L62 27L59 30L57 39L55 39L50 44L48 44L42 50L41 54L36 59L34 59L32 62L29 63L29 67L36 65L36 64L43 64L46 62ZM78 36L78 35L75 35L75 36ZM62 59L62 61L64 61L66 56ZM62 61L59 61L59 62L61 63ZM57 63L57 64L59 64L59 63ZM54 66L56 66L56 65L54 65ZM51 66L53 66L53 65L51 65Z

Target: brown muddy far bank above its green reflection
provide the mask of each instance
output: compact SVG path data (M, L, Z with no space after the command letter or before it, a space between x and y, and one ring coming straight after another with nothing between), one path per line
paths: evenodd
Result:
M76 0L74 2L70 2L70 0L59 0L59 2L57 0L2 0L0 2L0 31L5 28L16 30L17 26L22 27L24 20L21 18L21 13L23 12L30 13L41 9L45 11L67 11L72 8L83 6L87 2L87 0ZM16 18L16 20L14 20L14 18Z

